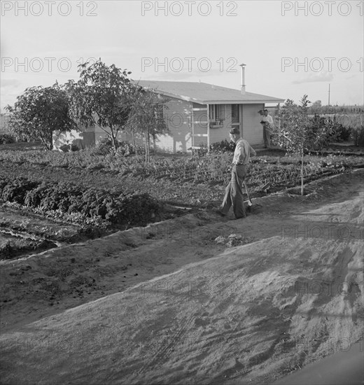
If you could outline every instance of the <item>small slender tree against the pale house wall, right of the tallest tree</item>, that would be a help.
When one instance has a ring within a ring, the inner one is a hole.
[[[134,102],[127,121],[127,130],[133,134],[141,134],[146,146],[146,162],[151,160],[151,138],[155,143],[158,134],[168,132],[163,116],[167,99],[157,92],[146,91],[138,87],[133,98]]]

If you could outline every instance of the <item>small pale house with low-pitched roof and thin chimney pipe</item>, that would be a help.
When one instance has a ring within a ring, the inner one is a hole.
[[[229,139],[229,130],[239,127],[242,137],[252,146],[263,144],[262,125],[258,111],[265,104],[279,104],[284,99],[246,92],[244,65],[241,64],[241,90],[197,82],[139,80],[136,83],[146,90],[157,92],[168,99],[163,116],[168,134],[159,135],[155,145],[162,151],[188,152],[201,144]],[[73,141],[80,148],[97,143],[106,136],[99,127],[83,132],[71,132],[55,142],[59,147]],[[132,141],[132,134],[121,132],[119,140]]]

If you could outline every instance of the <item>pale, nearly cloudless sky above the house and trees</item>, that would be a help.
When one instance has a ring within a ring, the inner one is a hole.
[[[134,80],[364,104],[364,1],[1,0],[0,108],[101,58]]]

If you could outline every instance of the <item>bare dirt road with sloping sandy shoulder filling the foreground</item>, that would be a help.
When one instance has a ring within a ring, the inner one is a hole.
[[[347,348],[363,174],[257,199],[245,220],[198,211],[2,262],[3,383],[260,384]]]

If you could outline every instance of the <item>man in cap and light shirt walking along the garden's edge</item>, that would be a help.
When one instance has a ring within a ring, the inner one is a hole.
[[[236,219],[245,218],[243,183],[246,176],[248,162],[256,153],[250,144],[240,137],[238,128],[232,128],[229,132],[230,140],[237,144],[234,158],[232,159],[232,172],[230,183],[225,188],[225,197],[220,207],[220,213],[227,215],[230,207],[234,210]]]

